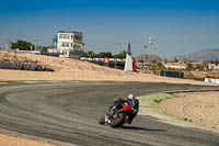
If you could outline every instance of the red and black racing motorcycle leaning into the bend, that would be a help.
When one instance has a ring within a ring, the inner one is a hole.
[[[108,124],[111,127],[122,126],[127,122],[129,115],[134,113],[134,109],[124,102],[116,108],[115,101],[108,109],[108,112],[100,120],[100,124]]]

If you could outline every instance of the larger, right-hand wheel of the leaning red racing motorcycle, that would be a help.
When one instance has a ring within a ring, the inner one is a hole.
[[[127,113],[125,113],[125,112],[118,113],[117,116],[112,120],[111,127],[122,126],[126,120],[126,115],[127,115]]]

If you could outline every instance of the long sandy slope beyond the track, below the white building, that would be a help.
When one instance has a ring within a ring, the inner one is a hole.
[[[108,80],[108,81],[147,81],[147,82],[171,82],[192,85],[212,85],[203,81],[166,78],[141,72],[124,71],[110,67],[80,61],[71,58],[49,57],[16,52],[0,50],[0,61],[12,63],[36,63],[55,71],[26,71],[0,69],[0,81],[14,80]]]

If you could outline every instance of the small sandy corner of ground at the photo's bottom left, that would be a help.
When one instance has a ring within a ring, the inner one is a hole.
[[[0,145],[1,146],[57,146],[44,142],[36,142],[32,139],[24,139],[16,136],[9,136],[5,134],[0,134]]]

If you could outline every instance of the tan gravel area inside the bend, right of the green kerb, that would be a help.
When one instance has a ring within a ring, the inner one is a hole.
[[[219,91],[175,93],[159,103],[159,109],[200,126],[219,130]]]

